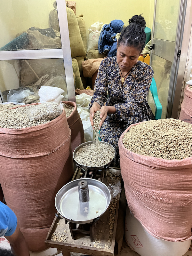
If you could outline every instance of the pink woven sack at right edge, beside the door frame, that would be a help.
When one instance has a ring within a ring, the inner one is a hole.
[[[184,90],[179,119],[192,124],[192,90],[189,88],[189,84],[186,85]]]

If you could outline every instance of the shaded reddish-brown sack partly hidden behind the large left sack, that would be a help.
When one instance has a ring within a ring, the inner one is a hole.
[[[76,103],[74,101],[62,101],[62,103],[74,107],[73,112],[67,118],[69,128],[71,129],[71,146],[73,153],[77,146],[85,142],[83,124],[77,111]]]

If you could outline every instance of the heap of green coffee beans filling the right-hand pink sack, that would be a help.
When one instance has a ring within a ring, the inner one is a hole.
[[[123,144],[139,155],[181,160],[192,156],[192,124],[173,118],[146,121],[132,126]]]

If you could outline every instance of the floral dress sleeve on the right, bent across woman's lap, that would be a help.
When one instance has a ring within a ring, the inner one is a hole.
[[[127,121],[134,118],[135,113],[142,112],[142,106],[146,105],[147,94],[153,78],[153,69],[150,66],[139,70],[139,78],[133,81],[133,87],[124,103],[115,104],[116,113],[113,114],[116,121]]]

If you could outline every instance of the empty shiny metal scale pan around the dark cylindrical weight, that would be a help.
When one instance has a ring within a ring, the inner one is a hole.
[[[78,182],[86,180],[89,187],[89,201],[79,201]],[[73,223],[90,223],[100,217],[109,207],[111,194],[108,187],[99,180],[77,179],[63,186],[55,196],[55,207],[66,220]]]

